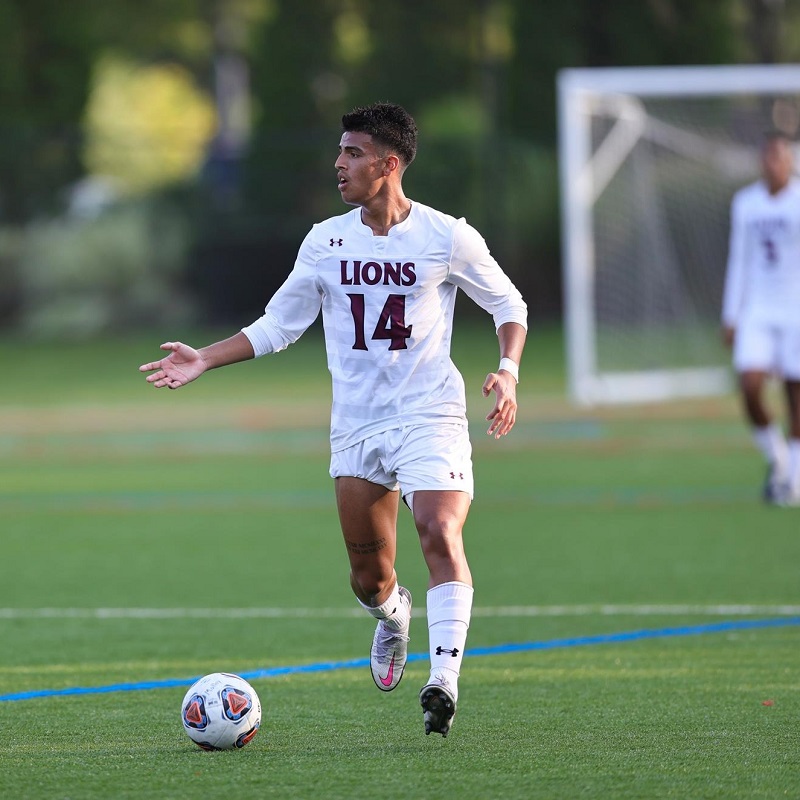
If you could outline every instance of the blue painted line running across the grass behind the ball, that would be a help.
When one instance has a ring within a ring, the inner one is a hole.
[[[595,636],[575,636],[568,639],[550,639],[543,642],[520,642],[494,645],[492,647],[473,647],[465,653],[467,656],[496,656],[507,653],[525,653],[533,650],[557,650],[566,647],[585,647],[597,644],[618,644],[620,642],[637,642],[645,639],[667,639],[677,636],[697,636],[706,633],[726,633],[730,631],[758,630],[764,628],[788,628],[800,626],[800,617],[781,617],[778,619],[731,620],[714,622],[707,625],[684,625],[674,628],[645,629],[625,631],[622,633],[599,634]],[[408,660],[422,661],[428,653],[409,653]],[[340,669],[362,669],[369,666],[368,658],[357,658],[351,661],[321,661],[299,666],[270,667],[269,669],[240,672],[245,680],[262,678],[278,678],[284,675],[302,675],[311,672],[332,672]],[[0,702],[8,703],[17,700],[35,700],[39,697],[64,697],[81,694],[109,694],[111,692],[140,692],[148,689],[173,689],[179,686],[191,686],[198,678],[169,678],[158,681],[140,681],[137,683],[113,683],[107,686],[74,686],[67,689],[36,689],[29,692],[15,692],[0,695]]]

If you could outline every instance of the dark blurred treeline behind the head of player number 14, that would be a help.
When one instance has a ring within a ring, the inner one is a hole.
[[[773,0],[0,0],[0,226],[56,213],[85,173],[100,55],[180,63],[212,95],[233,60],[246,145],[223,125],[199,188],[175,187],[197,231],[190,280],[220,316],[250,309],[254,271],[269,291],[309,225],[342,210],[339,118],[374,100],[420,124],[409,194],[466,216],[555,314],[557,71],[788,61],[799,31],[796,5]]]

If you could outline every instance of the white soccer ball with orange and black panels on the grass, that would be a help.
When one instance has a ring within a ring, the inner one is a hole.
[[[203,750],[232,750],[258,733],[261,701],[244,678],[214,672],[189,687],[181,720],[186,735]]]

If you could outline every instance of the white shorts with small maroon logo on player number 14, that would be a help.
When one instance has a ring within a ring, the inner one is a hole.
[[[332,478],[363,478],[402,491],[474,492],[466,423],[431,423],[389,430],[331,455]]]

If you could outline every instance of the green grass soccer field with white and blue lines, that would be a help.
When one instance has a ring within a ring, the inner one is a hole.
[[[577,410],[557,333],[534,330],[495,442],[491,324],[454,343],[477,491],[451,735],[423,733],[422,658],[390,695],[363,666],[254,678],[253,743],[197,749],[190,678],[363,660],[373,624],[348,587],[318,334],[158,392],[137,366],[175,335],[0,341],[0,797],[800,797],[800,510],[760,504],[735,398]],[[408,514],[399,537],[421,612]],[[77,687],[98,691],[55,693]]]

